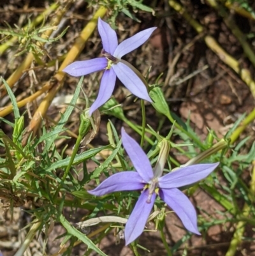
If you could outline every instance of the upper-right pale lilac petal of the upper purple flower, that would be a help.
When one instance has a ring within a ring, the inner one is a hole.
[[[140,45],[149,39],[150,35],[156,28],[157,27],[151,27],[150,29],[145,29],[135,34],[135,36],[131,36],[131,38],[122,41],[122,43],[117,46],[113,56],[120,59],[125,54],[128,54],[129,52],[132,52],[132,50],[140,47]]]

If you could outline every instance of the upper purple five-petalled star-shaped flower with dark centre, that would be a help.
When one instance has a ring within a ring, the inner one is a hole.
[[[147,92],[146,81],[142,77],[142,74],[130,63],[121,59],[121,57],[145,43],[155,29],[156,27],[145,29],[135,34],[135,36],[131,36],[131,38],[122,41],[122,43],[118,45],[115,31],[106,22],[100,18],[98,19],[98,31],[103,42],[102,54],[104,57],[87,61],[76,61],[69,64],[63,70],[75,77],[105,70],[101,80],[98,98],[89,110],[90,116],[94,110],[107,102],[112,95],[116,76],[135,96],[152,102]]]

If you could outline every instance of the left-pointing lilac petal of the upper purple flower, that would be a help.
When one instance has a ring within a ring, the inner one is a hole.
[[[87,61],[75,61],[69,64],[62,71],[73,75],[74,77],[80,77],[99,70],[103,70],[107,66],[107,59],[105,57],[99,57],[96,59],[89,59]]]

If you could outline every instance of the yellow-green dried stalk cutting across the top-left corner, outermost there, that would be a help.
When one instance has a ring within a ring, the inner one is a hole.
[[[27,29],[33,29],[33,27],[36,27],[38,24],[43,22],[43,20],[47,19],[48,15],[52,13],[52,11],[55,11],[59,7],[59,3],[53,3],[47,10],[43,11],[36,19],[34,19],[31,24],[25,27],[23,27],[24,30]],[[17,36],[13,36],[10,40],[3,43],[3,45],[0,45],[0,56],[4,54],[4,52],[12,45],[16,43],[18,40]]]

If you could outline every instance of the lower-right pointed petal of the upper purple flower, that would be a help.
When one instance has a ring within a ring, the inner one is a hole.
[[[113,64],[112,68],[122,84],[124,84],[131,93],[138,98],[152,102],[145,84],[143,84],[142,80],[129,66],[119,62],[118,64]]]

